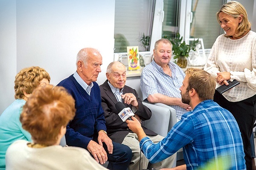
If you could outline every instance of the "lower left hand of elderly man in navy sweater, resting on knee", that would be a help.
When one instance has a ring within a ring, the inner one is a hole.
[[[87,150],[93,155],[94,159],[100,164],[105,164],[108,160],[107,153],[103,146],[97,144],[93,140],[87,145]]]

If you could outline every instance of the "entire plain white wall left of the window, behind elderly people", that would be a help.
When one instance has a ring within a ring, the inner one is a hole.
[[[56,85],[76,71],[84,47],[101,51],[102,84],[113,61],[114,8],[114,0],[0,0],[0,114],[14,101],[20,69],[45,68]]]

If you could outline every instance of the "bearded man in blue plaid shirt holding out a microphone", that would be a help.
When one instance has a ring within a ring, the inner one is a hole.
[[[185,165],[177,170],[245,170],[243,142],[233,115],[213,102],[215,79],[206,71],[189,68],[180,87],[182,102],[193,111],[183,114],[167,136],[154,144],[143,132],[140,122],[127,120],[137,133],[140,149],[151,163],[166,159],[183,147]],[[175,170],[176,170],[175,169]],[[167,169],[164,169],[167,170]]]

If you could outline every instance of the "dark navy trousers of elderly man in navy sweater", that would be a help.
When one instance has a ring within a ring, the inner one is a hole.
[[[128,166],[131,162],[131,149],[125,144],[119,144],[113,142],[113,153],[108,153],[108,148],[105,143],[103,143],[103,147],[108,155],[108,169],[109,170],[127,170]]]

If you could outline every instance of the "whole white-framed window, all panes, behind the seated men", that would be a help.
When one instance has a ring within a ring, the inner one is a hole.
[[[227,0],[116,0],[114,53],[126,53],[127,46],[139,46],[139,51],[150,51],[161,37],[184,40],[202,38],[204,47],[212,48],[223,34],[215,14]],[[143,45],[143,37],[150,41]]]

